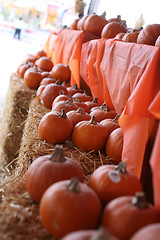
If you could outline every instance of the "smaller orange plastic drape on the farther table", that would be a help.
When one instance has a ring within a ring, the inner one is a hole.
[[[71,85],[77,83],[80,87],[80,59],[82,44],[92,39],[99,38],[96,35],[66,29],[58,34],[56,47],[51,52],[51,59],[54,64],[69,64],[71,69]]]

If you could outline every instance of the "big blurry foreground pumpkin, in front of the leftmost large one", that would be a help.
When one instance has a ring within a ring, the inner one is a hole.
[[[100,214],[101,203],[96,193],[77,178],[54,183],[40,202],[42,224],[56,238],[97,228]]]

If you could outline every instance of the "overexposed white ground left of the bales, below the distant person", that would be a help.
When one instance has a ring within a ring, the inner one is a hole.
[[[49,32],[35,30],[27,33],[22,31],[21,39],[14,39],[14,29],[0,26],[0,117],[10,76],[27,54],[34,54],[43,48]]]

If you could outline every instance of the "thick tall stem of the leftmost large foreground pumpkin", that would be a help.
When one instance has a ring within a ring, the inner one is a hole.
[[[49,160],[53,162],[65,162],[64,149],[62,145],[56,145],[54,151],[52,152]]]

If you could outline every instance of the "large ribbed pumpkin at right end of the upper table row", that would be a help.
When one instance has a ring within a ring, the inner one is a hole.
[[[154,46],[159,35],[160,24],[148,24],[140,31],[137,43]]]

